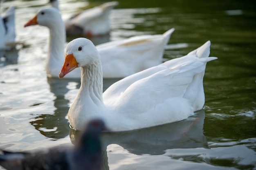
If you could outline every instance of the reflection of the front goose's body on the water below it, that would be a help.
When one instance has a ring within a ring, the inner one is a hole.
[[[104,168],[108,168],[106,148],[117,144],[135,155],[162,155],[173,148],[209,148],[203,134],[204,110],[199,110],[188,119],[151,128],[127,132],[105,132],[102,134]],[[70,139],[75,142],[79,131],[70,129]]]

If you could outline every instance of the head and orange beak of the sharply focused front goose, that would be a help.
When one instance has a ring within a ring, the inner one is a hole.
[[[77,67],[99,64],[101,64],[100,55],[94,44],[86,38],[76,38],[67,44],[59,78],[63,78]]]

